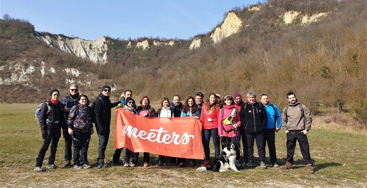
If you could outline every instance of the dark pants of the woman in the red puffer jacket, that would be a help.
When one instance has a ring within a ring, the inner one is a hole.
[[[204,135],[202,135],[201,137],[203,138],[202,140],[205,153],[205,160],[210,161],[210,148],[209,148],[210,137],[213,138],[215,158],[218,158],[220,154],[218,129],[204,129],[203,131]]]

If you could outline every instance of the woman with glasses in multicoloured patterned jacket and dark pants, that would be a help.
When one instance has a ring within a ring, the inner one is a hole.
[[[74,168],[90,168],[91,165],[88,164],[87,153],[91,134],[93,134],[93,124],[87,95],[79,95],[77,104],[70,108],[68,132],[73,137]]]

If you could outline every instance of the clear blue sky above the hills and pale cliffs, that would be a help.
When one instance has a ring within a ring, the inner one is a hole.
[[[28,19],[36,30],[96,40],[142,36],[188,39],[207,33],[233,7],[258,0],[0,0],[0,15]]]

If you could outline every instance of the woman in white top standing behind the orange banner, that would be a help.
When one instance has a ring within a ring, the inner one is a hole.
[[[158,117],[167,117],[167,118],[172,118],[173,117],[173,110],[171,109],[171,106],[170,106],[170,100],[167,97],[164,97],[161,100],[161,106],[157,110],[157,116]],[[163,166],[164,163],[166,163],[166,165],[169,166],[171,158],[172,157],[170,157],[170,156],[159,155],[158,166]]]

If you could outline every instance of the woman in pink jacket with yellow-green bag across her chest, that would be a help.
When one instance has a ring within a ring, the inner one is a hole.
[[[218,121],[218,135],[220,139],[224,140],[224,143],[233,142],[236,143],[236,135],[235,129],[237,129],[240,122],[240,115],[238,109],[235,107],[235,100],[230,95],[226,95],[222,100],[223,108],[219,113],[219,121]],[[239,132],[237,132],[239,133]],[[222,145],[222,148],[225,146]],[[236,147],[236,167],[240,168],[240,152],[239,148]]]

